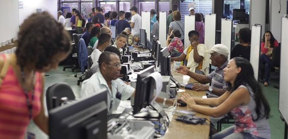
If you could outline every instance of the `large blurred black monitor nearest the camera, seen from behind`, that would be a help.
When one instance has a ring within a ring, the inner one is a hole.
[[[107,138],[107,89],[49,111],[49,138]]]

